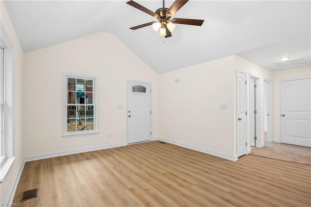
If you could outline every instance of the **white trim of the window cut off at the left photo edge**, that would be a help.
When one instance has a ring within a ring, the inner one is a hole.
[[[4,48],[4,156],[0,160],[0,183],[12,166],[14,156],[13,44],[0,22],[0,45]]]

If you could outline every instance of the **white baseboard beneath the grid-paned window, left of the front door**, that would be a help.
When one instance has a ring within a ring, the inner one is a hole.
[[[90,148],[82,148],[82,149],[75,149],[75,150],[69,150],[69,151],[63,151],[63,152],[56,152],[56,153],[47,153],[47,154],[41,154],[41,155],[34,155],[34,156],[27,156],[25,157],[25,162],[38,160],[38,159],[46,159],[56,156],[63,156],[63,155],[72,155],[77,153],[85,153],[95,150],[104,150],[114,147],[121,147],[127,145],[126,142],[118,143],[118,144],[109,144],[104,146],[98,146],[98,147],[90,147]]]

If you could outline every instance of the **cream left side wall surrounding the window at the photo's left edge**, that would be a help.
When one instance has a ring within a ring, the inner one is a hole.
[[[10,193],[17,178],[17,173],[23,162],[22,149],[22,107],[23,107],[23,51],[20,47],[17,35],[7,13],[3,1],[0,1],[1,23],[3,24],[12,44],[14,51],[14,71],[13,71],[13,100],[14,100],[14,154],[16,156],[9,172],[0,184],[0,203],[8,202]]]

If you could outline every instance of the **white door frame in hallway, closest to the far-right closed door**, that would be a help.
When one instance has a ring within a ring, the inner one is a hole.
[[[263,83],[267,83],[267,113],[269,114],[267,118],[267,141],[272,142],[272,81],[271,80],[263,80]],[[265,91],[264,91],[265,92]],[[265,116],[265,115],[264,115]]]

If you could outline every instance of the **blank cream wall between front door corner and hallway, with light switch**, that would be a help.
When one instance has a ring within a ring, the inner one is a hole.
[[[234,77],[233,56],[160,74],[160,137],[233,156]]]

